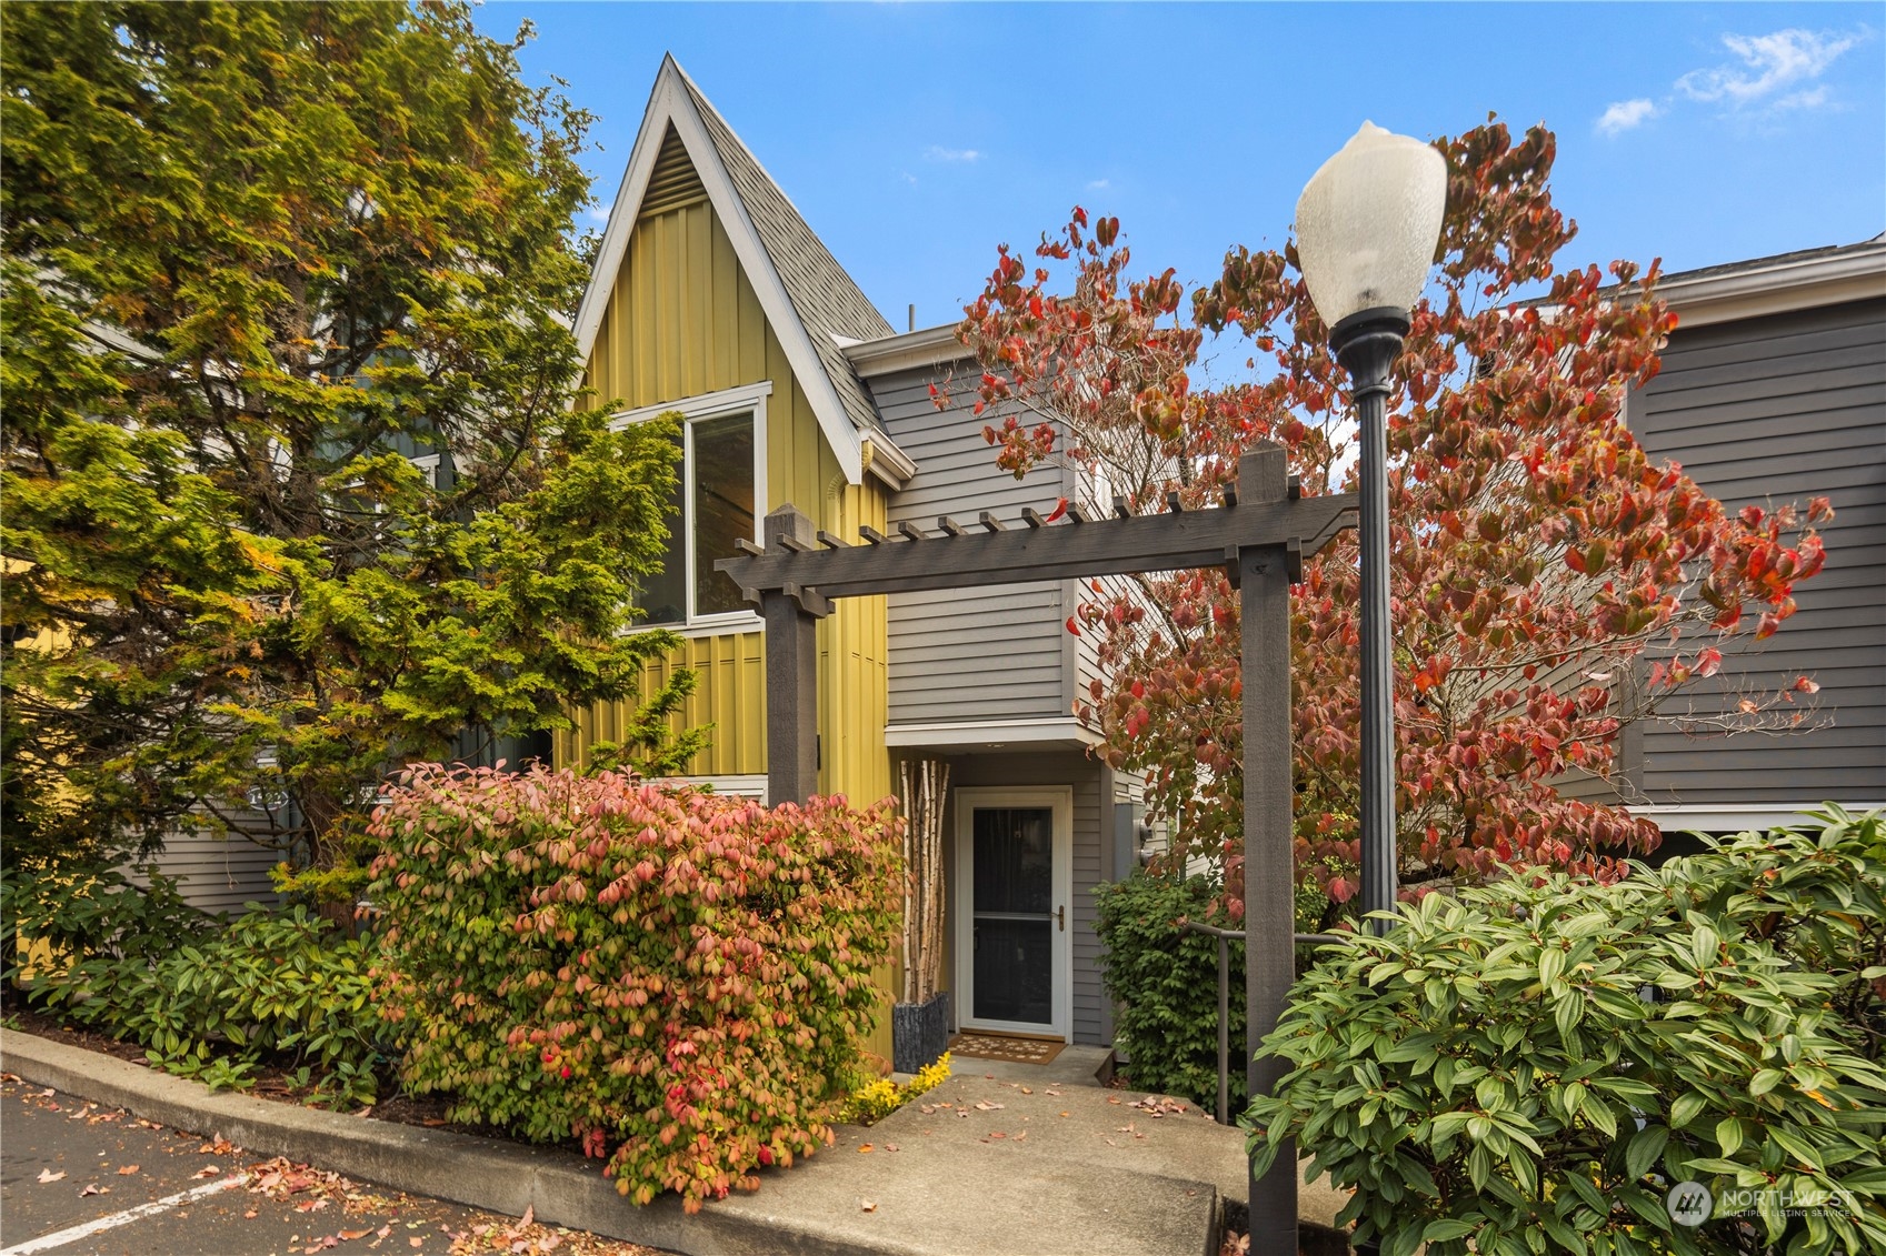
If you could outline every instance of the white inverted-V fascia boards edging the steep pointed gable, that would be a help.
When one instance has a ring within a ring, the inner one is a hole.
[[[649,189],[649,175],[654,172],[654,157],[660,153],[662,136],[668,134],[670,124],[681,136],[681,147],[687,149],[688,160],[694,162],[694,174],[700,175],[702,185],[707,189],[707,200],[720,217],[720,226],[726,228],[728,240],[734,245],[734,256],[739,258],[739,266],[747,273],[754,296],[760,298],[766,321],[779,338],[779,345],[786,351],[786,362],[792,366],[800,388],[803,388],[805,398],[811,402],[813,415],[819,419],[819,430],[824,432],[826,443],[832,445],[832,454],[837,458],[839,470],[845,471],[845,481],[851,485],[864,483],[864,447],[858,428],[852,426],[851,417],[845,413],[845,404],[839,400],[837,388],[832,387],[832,379],[826,375],[817,349],[813,349],[811,334],[800,322],[800,315],[792,307],[792,298],[786,296],[786,285],[781,283],[779,272],[773,268],[773,258],[768,256],[766,245],[760,243],[760,232],[753,226],[753,219],[747,217],[747,206],[734,189],[734,179],[728,177],[726,166],[720,162],[720,153],[713,147],[707,126],[702,123],[702,115],[694,107],[694,98],[687,91],[681,68],[671,57],[662,60],[662,72],[656,75],[654,94],[649,100],[649,115],[643,119],[641,132],[636,136],[636,147],[630,151],[622,192],[617,196],[615,207],[609,209],[609,226],[604,232],[596,272],[590,277],[590,289],[583,296],[583,309],[577,317],[577,347],[583,358],[588,360],[590,349],[596,343],[596,332],[602,328],[609,290],[620,273],[628,238],[634,232],[641,198]]]

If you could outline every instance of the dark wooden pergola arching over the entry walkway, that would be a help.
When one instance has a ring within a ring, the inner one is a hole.
[[[1290,583],[1303,558],[1356,526],[1354,494],[1303,498],[1284,471],[1281,445],[1266,443],[1237,466],[1224,505],[1113,519],[1069,507],[1049,524],[1035,511],[1005,524],[937,519],[935,532],[898,524],[902,539],[871,528],[860,543],[815,532],[790,504],[766,517],[766,547],[741,543],[726,571],[766,622],[766,764],[771,802],[803,802],[819,788],[817,622],[834,598],[932,588],[981,588],[1132,571],[1224,568],[1241,594],[1245,694],[1245,1007],[1249,1041],[1269,1033],[1296,977],[1290,781]],[[1250,1094],[1269,1094],[1282,1064],[1249,1062]],[[1296,1250],[1298,1165],[1284,1149],[1250,1182],[1252,1250]],[[1260,1237],[1262,1235],[1262,1237]]]

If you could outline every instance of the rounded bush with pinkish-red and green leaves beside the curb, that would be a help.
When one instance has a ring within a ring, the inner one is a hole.
[[[421,766],[372,832],[409,1090],[688,1211],[830,1141],[898,932],[888,803]]]

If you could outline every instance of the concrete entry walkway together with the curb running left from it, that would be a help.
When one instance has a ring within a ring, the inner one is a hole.
[[[626,1203],[573,1152],[209,1094],[0,1030],[0,1067],[41,1086],[396,1190],[511,1216],[534,1207],[543,1222],[690,1256],[1216,1256],[1220,1198],[1243,1198],[1237,1130],[1196,1111],[1154,1116],[1133,1092],[968,1071],[981,1064],[958,1062],[918,1103],[869,1130],[841,1128],[798,1167],[762,1171],[758,1192],[687,1216],[673,1198]],[[1339,1207],[1326,1188],[1303,1199],[1309,1222]]]

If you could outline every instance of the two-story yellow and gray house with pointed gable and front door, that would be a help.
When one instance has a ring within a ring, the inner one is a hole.
[[[666,664],[700,675],[681,719],[713,724],[690,779],[720,790],[764,794],[766,692],[760,620],[713,560],[769,509],[790,502],[856,539],[1073,496],[1060,470],[998,471],[971,398],[934,405],[930,383],[962,356],[951,330],[894,334],[671,58],[575,330],[620,422],[687,419],[681,521],[643,602],[685,637]],[[947,756],[958,1024],[1105,1043],[1092,886],[1122,871],[1128,790],[1071,715],[1088,668],[1062,630],[1073,603],[1064,583],[841,602],[819,624],[819,786],[869,803],[900,758]],[[622,715],[583,713],[558,762],[581,762]]]

